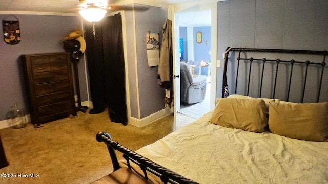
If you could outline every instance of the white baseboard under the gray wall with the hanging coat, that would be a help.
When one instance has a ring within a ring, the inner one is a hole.
[[[129,124],[140,128],[140,127],[146,126],[162,117],[165,117],[170,113],[173,113],[173,108],[162,109],[162,110],[155,112],[153,114],[150,114],[149,116],[142,118],[142,119],[137,119],[137,118],[131,117]]]

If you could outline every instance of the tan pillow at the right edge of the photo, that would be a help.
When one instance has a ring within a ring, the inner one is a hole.
[[[328,141],[328,103],[269,103],[272,133],[307,141]]]

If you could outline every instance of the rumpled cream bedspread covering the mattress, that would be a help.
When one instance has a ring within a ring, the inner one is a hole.
[[[211,115],[136,152],[199,183],[328,183],[328,142],[224,128]]]

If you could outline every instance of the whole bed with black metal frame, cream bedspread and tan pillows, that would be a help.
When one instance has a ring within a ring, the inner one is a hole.
[[[136,152],[96,139],[152,183],[328,183],[326,54],[229,47],[213,111]]]

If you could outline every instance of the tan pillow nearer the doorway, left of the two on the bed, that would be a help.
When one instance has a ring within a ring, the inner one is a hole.
[[[222,98],[218,101],[210,122],[261,133],[268,126],[268,108],[262,99]]]

